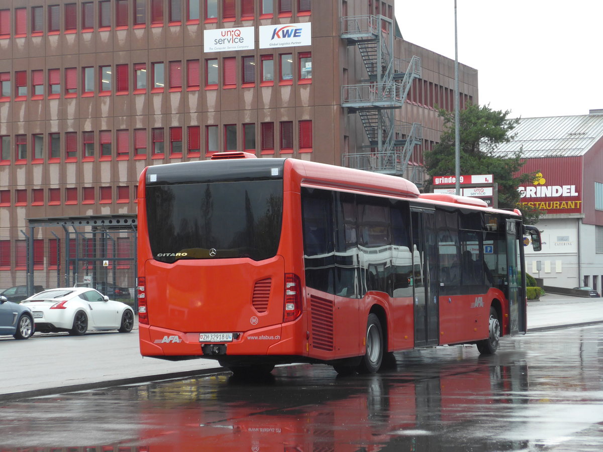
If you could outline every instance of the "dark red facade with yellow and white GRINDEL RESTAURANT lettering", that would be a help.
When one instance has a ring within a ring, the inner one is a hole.
[[[546,213],[581,213],[581,162],[563,157],[529,159],[522,172],[535,172],[531,184],[519,187],[521,203]]]

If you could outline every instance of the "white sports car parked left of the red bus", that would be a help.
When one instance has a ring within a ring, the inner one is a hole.
[[[21,302],[34,316],[36,332],[81,336],[87,330],[119,330],[129,333],[134,310],[121,301],[89,287],[60,287],[36,293]]]

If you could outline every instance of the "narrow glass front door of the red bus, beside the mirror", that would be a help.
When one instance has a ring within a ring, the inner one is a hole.
[[[523,250],[521,223],[507,220],[507,281],[509,300],[509,321],[511,335],[525,333],[526,304],[525,304],[525,269],[523,268]]]

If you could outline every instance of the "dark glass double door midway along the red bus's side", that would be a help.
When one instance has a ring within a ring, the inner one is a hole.
[[[415,347],[438,345],[438,280],[435,212],[411,209]]]

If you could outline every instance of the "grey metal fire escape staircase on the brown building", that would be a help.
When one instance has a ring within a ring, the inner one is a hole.
[[[421,77],[421,60],[394,58],[394,23],[385,16],[341,18],[341,37],[358,46],[368,79],[342,87],[341,104],[358,113],[367,133],[369,149],[343,155],[343,166],[385,174],[405,175],[414,146],[421,143],[420,124],[394,120],[415,78]],[[414,180],[413,180],[414,181]]]

